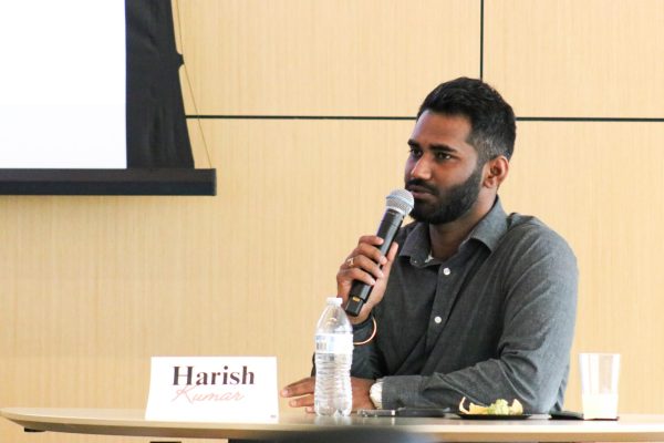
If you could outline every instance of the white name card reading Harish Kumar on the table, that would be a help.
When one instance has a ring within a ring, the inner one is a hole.
[[[145,420],[276,422],[274,357],[153,357]]]

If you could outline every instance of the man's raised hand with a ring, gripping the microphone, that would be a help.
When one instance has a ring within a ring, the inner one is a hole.
[[[385,293],[390,269],[392,269],[398,245],[393,243],[385,257],[376,247],[382,244],[383,239],[375,235],[360,237],[357,247],[353,249],[339,268],[339,272],[336,272],[336,290],[338,295],[343,299],[344,305],[349,300],[349,292],[353,286],[353,280],[373,286],[371,297],[362,307],[360,315],[357,317],[349,317],[354,324],[366,320],[373,307],[381,302]],[[383,266],[382,269],[381,265]]]

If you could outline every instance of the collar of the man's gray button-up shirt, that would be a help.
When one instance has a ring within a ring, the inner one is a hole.
[[[479,220],[473,231],[461,243],[461,247],[469,240],[478,240],[486,245],[490,251],[494,251],[500,241],[502,235],[507,231],[507,215],[502,209],[500,199],[496,197],[494,207],[487,215]],[[412,257],[413,259],[426,261],[430,253],[428,224],[416,222],[412,231],[404,241],[400,256]]]

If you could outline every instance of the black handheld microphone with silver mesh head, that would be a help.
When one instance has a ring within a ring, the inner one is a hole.
[[[384,241],[378,247],[382,255],[386,255],[398,233],[404,218],[413,210],[415,200],[413,195],[406,189],[394,189],[387,196],[387,203],[385,214],[378,225],[378,231],[376,236],[381,237]],[[349,301],[345,306],[345,311],[349,316],[357,317],[360,310],[369,300],[373,286],[366,285],[363,281],[353,280],[351,292],[349,293]]]

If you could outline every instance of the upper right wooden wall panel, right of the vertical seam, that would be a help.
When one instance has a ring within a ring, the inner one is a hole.
[[[518,115],[664,117],[660,0],[496,0],[485,8],[485,80]]]

